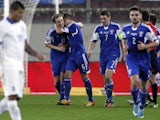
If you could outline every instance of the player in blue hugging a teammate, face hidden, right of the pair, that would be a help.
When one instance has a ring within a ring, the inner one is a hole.
[[[92,84],[88,77],[89,60],[83,45],[81,30],[79,26],[77,26],[76,23],[72,21],[71,15],[64,14],[64,20],[66,27],[59,32],[64,32],[67,34],[68,44],[70,46],[70,54],[66,63],[64,79],[66,98],[67,100],[70,100],[71,77],[73,73],[79,69],[88,95],[88,102],[84,106],[94,106],[95,103],[92,96]]]

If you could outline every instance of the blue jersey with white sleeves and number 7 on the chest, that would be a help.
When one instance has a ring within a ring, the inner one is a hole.
[[[108,27],[98,25],[94,32],[91,41],[97,42],[100,40],[100,57],[106,58],[115,54],[120,56],[118,34],[121,28],[119,24],[111,22]]]

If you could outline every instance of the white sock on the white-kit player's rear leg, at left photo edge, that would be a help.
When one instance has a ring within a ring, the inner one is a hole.
[[[1,101],[0,101],[0,115],[7,111],[7,101],[8,101],[8,98],[7,97],[4,97]]]

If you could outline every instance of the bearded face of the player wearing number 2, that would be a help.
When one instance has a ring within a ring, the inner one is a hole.
[[[141,14],[139,11],[133,10],[129,13],[132,24],[138,24],[141,21]]]

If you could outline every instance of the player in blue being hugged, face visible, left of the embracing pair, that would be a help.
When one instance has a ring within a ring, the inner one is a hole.
[[[65,47],[67,38],[65,33],[57,34],[56,32],[56,30],[64,27],[63,15],[55,14],[52,16],[52,21],[54,26],[48,30],[45,45],[51,49],[50,59],[52,64],[52,73],[54,75],[55,87],[60,94],[60,99],[57,104],[69,104],[69,102],[65,100],[64,95],[64,72],[68,58]]]

